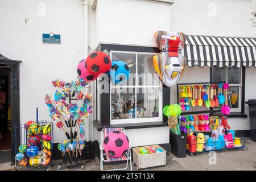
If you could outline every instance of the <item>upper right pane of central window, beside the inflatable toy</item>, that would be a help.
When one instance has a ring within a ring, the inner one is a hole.
[[[138,54],[138,85],[160,85],[152,59],[154,55]]]

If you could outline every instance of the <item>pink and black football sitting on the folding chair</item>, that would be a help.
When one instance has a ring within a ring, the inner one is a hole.
[[[129,149],[129,139],[120,131],[113,131],[106,135],[103,147],[109,156],[119,157],[125,155]]]

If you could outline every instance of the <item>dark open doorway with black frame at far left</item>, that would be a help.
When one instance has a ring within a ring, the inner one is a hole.
[[[0,54],[0,165],[15,156],[15,130],[19,125],[19,64]],[[19,133],[16,134],[19,142]]]

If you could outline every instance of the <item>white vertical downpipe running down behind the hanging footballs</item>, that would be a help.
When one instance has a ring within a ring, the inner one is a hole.
[[[82,2],[84,5],[84,58],[89,55],[89,0]],[[86,88],[86,92],[93,94],[93,84],[90,82],[89,88]],[[92,100],[92,106],[94,99]],[[85,141],[93,141],[93,115],[90,115],[88,121],[85,122]]]

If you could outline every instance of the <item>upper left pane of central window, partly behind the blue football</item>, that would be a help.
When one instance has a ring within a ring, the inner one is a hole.
[[[124,61],[130,70],[129,79],[122,85],[135,85],[135,73],[136,73],[136,54],[135,53],[123,53],[123,52],[112,52],[112,61],[121,60]]]

